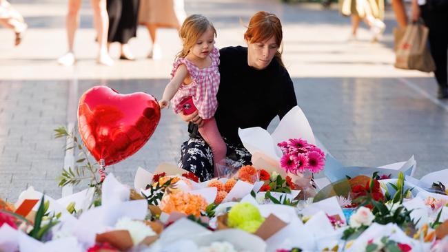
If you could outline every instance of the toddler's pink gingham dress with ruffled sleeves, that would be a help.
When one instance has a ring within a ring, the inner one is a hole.
[[[189,85],[182,84],[171,100],[174,112],[178,114],[182,111],[181,101],[188,96],[192,96],[193,103],[198,109],[199,116],[203,119],[209,119],[214,116],[218,107],[216,94],[219,87],[219,50],[214,48],[210,52],[212,64],[209,67],[198,68],[192,61],[185,58],[176,59],[173,64],[171,76],[174,77],[177,67],[181,64],[187,66],[187,70],[192,77],[192,83]]]

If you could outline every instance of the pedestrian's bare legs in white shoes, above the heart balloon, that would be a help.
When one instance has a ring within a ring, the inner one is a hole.
[[[106,0],[92,0],[94,13],[94,28],[98,34],[99,54],[96,61],[103,65],[112,65],[114,61],[108,54],[108,27],[109,19],[106,11]],[[74,34],[79,25],[79,9],[81,0],[69,0],[66,18],[66,29],[68,39],[68,52],[58,59],[61,65],[73,65],[74,59]]]

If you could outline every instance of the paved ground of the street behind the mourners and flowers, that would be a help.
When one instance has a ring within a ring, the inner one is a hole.
[[[145,59],[150,44],[146,30],[140,28],[130,42],[138,61],[96,65],[92,13],[89,1],[83,1],[75,49],[79,61],[74,67],[61,67],[55,59],[66,50],[66,3],[11,2],[30,30],[23,44],[14,48],[12,32],[0,29],[0,198],[15,200],[30,185],[59,198],[55,178],[63,167],[65,140],[54,139],[52,129],[74,120],[79,96],[94,85],[160,97],[180,43],[175,30],[160,30],[163,59]],[[369,43],[365,26],[360,28],[360,41],[347,43],[349,19],[336,9],[276,0],[242,2],[185,0],[185,8],[187,14],[202,13],[212,19],[220,48],[244,45],[241,21],[247,22],[256,10],[278,14],[284,28],[284,60],[298,104],[316,137],[338,160],[345,165],[379,166],[415,155],[418,177],[447,168],[448,105],[434,97],[431,74],[394,69],[391,28],[395,22],[390,11],[382,43]],[[114,56],[116,50],[112,46]],[[136,167],[174,164],[186,138],[185,123],[164,110],[147,145],[110,170],[132,185]]]

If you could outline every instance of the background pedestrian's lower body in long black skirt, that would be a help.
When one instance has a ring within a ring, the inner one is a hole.
[[[110,43],[120,43],[120,59],[134,60],[128,42],[136,36],[139,0],[108,0]]]

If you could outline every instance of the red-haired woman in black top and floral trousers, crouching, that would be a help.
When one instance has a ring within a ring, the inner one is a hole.
[[[216,124],[227,145],[227,159],[234,160],[235,168],[252,164],[252,156],[238,136],[238,127],[266,129],[274,117],[283,118],[297,105],[292,80],[279,52],[283,32],[278,17],[268,12],[256,12],[244,38],[247,48],[237,46],[220,50],[221,83],[216,95]],[[202,125],[197,112],[179,115],[185,121],[199,127]],[[200,134],[190,136],[181,146],[179,167],[191,171],[201,181],[213,178],[212,150]]]

